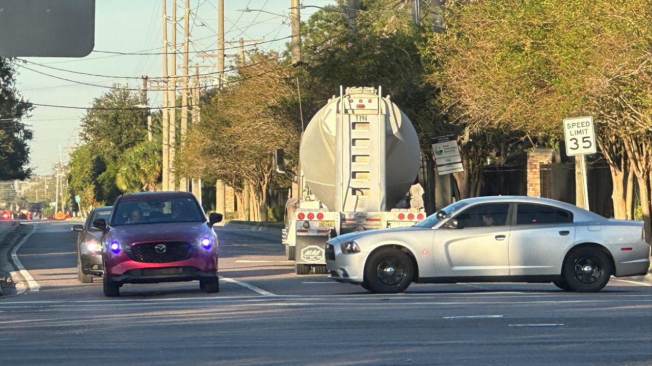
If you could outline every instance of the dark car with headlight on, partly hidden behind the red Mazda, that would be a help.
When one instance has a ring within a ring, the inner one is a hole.
[[[108,220],[111,217],[111,208],[111,206],[93,208],[83,225],[72,225],[72,230],[79,232],[77,236],[77,279],[81,283],[91,283],[93,277],[101,276],[104,273],[102,230],[93,227],[93,221]]]

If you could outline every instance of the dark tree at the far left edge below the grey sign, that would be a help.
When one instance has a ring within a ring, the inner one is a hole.
[[[16,70],[9,59],[0,57],[0,180],[24,180],[32,175],[29,141],[33,134],[20,122],[33,109],[16,91]]]

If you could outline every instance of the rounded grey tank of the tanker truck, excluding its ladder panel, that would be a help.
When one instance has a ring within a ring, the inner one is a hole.
[[[355,99],[361,95],[361,98],[367,98],[372,94],[350,95],[344,96],[344,99]],[[378,167],[378,176],[385,177],[385,189],[379,195],[379,200],[382,202],[377,207],[390,210],[406,195],[415,181],[419,173],[421,152],[419,137],[417,137],[417,132],[408,117],[389,98],[379,98],[379,104],[384,113],[386,139],[385,164],[383,166],[382,160],[375,164]],[[340,98],[333,98],[329,100],[326,106],[319,109],[318,113],[308,123],[301,138],[301,147],[299,149],[299,159],[304,180],[312,193],[329,210],[338,210],[336,205],[336,141],[340,140],[345,144],[350,141],[347,138],[349,136],[338,139],[335,134],[338,107],[341,105]],[[344,122],[343,126],[346,126],[346,122]],[[374,145],[373,142],[372,145]],[[344,164],[350,161],[350,155],[352,154],[349,147],[345,147],[345,150],[348,154],[342,158]],[[375,155],[377,155],[377,152],[372,151],[372,154],[370,154],[372,160]],[[374,162],[372,161],[372,163]],[[343,166],[340,169],[346,171],[348,167]],[[349,184],[350,186],[351,181],[348,180],[348,176],[343,180],[344,184],[340,185],[346,186]],[[375,184],[376,187],[379,184],[379,182],[369,183],[370,185]],[[342,191],[348,191],[348,188],[343,187]],[[368,207],[371,208],[372,206],[369,205]],[[370,209],[356,208],[355,210],[369,211]]]

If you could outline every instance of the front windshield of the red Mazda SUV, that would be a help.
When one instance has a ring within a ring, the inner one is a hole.
[[[158,198],[121,201],[114,208],[111,225],[205,221],[199,205],[190,198]]]

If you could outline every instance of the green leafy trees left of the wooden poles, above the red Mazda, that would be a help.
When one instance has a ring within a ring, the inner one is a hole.
[[[82,145],[70,156],[68,193],[91,206],[111,204],[126,191],[154,190],[160,182],[160,145],[147,139],[141,95],[116,89],[93,100],[82,117]],[[160,130],[155,115],[153,130]],[[160,139],[160,135],[156,135]]]

